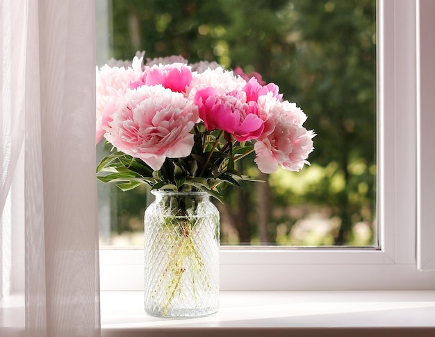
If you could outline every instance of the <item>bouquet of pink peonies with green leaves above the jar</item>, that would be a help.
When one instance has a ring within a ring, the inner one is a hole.
[[[126,191],[139,184],[164,191],[206,191],[222,200],[223,182],[254,180],[235,162],[255,152],[263,173],[299,171],[313,150],[306,115],[261,76],[188,64],[178,56],[97,69],[97,143],[113,151],[99,180]]]

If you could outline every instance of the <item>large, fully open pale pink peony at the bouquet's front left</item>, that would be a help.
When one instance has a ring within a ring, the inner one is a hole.
[[[106,139],[118,150],[142,159],[155,171],[166,157],[190,155],[197,107],[183,94],[161,85],[128,89],[104,111]]]

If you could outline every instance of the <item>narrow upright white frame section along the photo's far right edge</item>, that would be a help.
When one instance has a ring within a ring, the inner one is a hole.
[[[417,264],[420,270],[435,270],[435,1],[418,1],[417,12]]]

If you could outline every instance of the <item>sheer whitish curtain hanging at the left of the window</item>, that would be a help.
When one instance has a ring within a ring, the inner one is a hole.
[[[0,29],[1,295],[24,199],[28,336],[99,336],[94,1],[0,0]]]

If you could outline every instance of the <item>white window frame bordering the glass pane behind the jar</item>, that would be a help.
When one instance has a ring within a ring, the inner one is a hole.
[[[377,4],[377,209],[381,248],[222,248],[222,290],[435,289],[434,271],[421,271],[431,269],[427,261],[435,264],[435,207],[431,206],[435,204],[435,188],[425,189],[428,172],[435,171],[435,160],[428,159],[434,156],[426,156],[434,149],[435,132],[420,129],[417,124],[434,120],[423,108],[429,102],[433,110],[435,95],[421,90],[418,83],[423,79],[418,74],[424,73],[429,62],[433,66],[434,58],[418,60],[421,53],[417,50],[419,46],[425,51],[418,44],[417,34],[430,33],[418,28],[419,13],[424,13],[431,1],[379,0]],[[431,48],[434,55],[433,44]],[[423,97],[425,105],[418,103]],[[426,164],[432,170],[423,170]],[[418,182],[424,183],[419,187]],[[425,237],[429,234],[432,239]],[[100,277],[103,291],[142,290],[142,250],[100,250]]]

